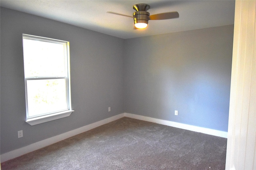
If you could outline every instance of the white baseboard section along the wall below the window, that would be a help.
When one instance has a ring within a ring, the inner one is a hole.
[[[62,133],[60,135],[57,135],[57,136],[54,136],[54,137],[50,137],[48,139],[44,139],[42,141],[39,141],[39,142],[36,142],[36,143],[33,143],[31,145],[28,145],[26,147],[22,147],[20,149],[16,149],[16,150],[12,150],[10,152],[6,152],[4,154],[1,154],[1,162],[5,162],[7,160],[10,160],[10,159],[13,159],[13,158],[16,158],[18,156],[21,156],[23,154],[26,154],[26,153],[29,153],[29,152],[32,152],[34,150],[38,150],[38,149],[41,149],[43,147],[46,147],[48,145],[52,145],[54,143],[57,143],[59,141],[62,141],[64,139],[68,139],[69,137],[72,137],[74,135],[78,135],[80,133],[83,133],[83,132],[86,132],[86,131],[89,131],[91,129],[94,129],[96,127],[99,127],[101,125],[104,125],[106,123],[110,123],[112,121],[115,121],[117,119],[120,119],[124,117],[124,114],[119,114],[119,115],[116,115],[116,116],[113,116],[113,117],[109,117],[107,119],[104,119],[104,120],[101,120],[101,121],[97,121],[95,123],[92,123],[90,125],[86,125],[86,126],[83,126],[83,127],[80,127],[78,129],[74,129],[72,131],[68,131],[66,133]]]

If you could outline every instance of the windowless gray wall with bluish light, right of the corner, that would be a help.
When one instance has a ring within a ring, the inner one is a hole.
[[[233,27],[125,40],[125,111],[228,131]]]

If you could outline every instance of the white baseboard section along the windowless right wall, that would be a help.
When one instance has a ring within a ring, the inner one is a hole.
[[[225,132],[225,131],[218,131],[218,130],[214,130],[214,129],[208,129],[208,128],[205,128],[205,127],[187,125],[187,124],[178,123],[178,122],[174,122],[174,121],[156,119],[156,118],[152,118],[152,117],[135,115],[135,114],[131,114],[131,113],[124,113],[124,116],[134,118],[134,119],[149,121],[149,122],[153,122],[153,123],[158,123],[158,124],[161,124],[161,125],[177,127],[177,128],[180,128],[180,129],[186,129],[186,130],[189,130],[189,131],[205,133],[205,134],[208,134],[208,135],[214,135],[214,136],[224,137],[224,138],[228,137],[228,132]]]

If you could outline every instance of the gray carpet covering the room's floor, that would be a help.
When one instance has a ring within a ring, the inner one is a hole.
[[[124,117],[1,166],[2,170],[224,170],[226,142]]]

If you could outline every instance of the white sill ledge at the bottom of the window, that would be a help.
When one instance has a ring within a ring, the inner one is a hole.
[[[35,117],[35,118],[32,118],[32,119],[26,120],[26,122],[33,126],[33,125],[37,125],[37,124],[44,123],[44,122],[47,122],[47,121],[52,121],[52,120],[60,119],[60,118],[63,118],[63,117],[68,117],[68,116],[70,116],[70,114],[73,111],[74,110],[67,110],[67,111],[54,113],[54,114],[51,114],[51,115]]]

